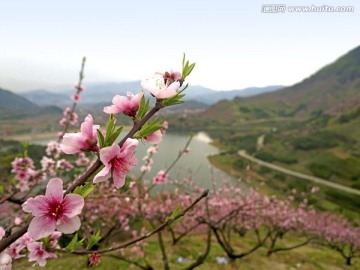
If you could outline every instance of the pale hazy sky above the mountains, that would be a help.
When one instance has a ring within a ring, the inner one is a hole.
[[[266,4],[354,12],[263,13]],[[0,0],[0,87],[137,80],[197,62],[190,83],[214,89],[291,85],[360,45],[358,0]]]

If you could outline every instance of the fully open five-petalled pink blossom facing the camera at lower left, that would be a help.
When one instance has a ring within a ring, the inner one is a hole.
[[[53,178],[46,186],[45,195],[29,198],[22,208],[32,213],[28,234],[34,240],[52,234],[55,229],[73,233],[80,228],[78,215],[84,207],[84,198],[78,194],[63,195],[63,181]]]

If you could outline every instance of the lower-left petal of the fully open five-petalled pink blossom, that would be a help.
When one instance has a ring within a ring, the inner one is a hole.
[[[47,216],[34,217],[30,222],[28,234],[34,240],[49,236],[55,231],[56,222]]]

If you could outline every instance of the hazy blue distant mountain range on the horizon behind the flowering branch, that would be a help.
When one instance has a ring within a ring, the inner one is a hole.
[[[86,90],[81,96],[81,103],[111,103],[114,95],[126,95],[126,92],[129,91],[134,93],[141,91],[140,85],[140,81],[86,85]],[[222,99],[231,100],[237,96],[253,96],[260,93],[275,91],[280,88],[282,88],[282,86],[251,87],[241,90],[215,91],[210,88],[195,85],[189,86],[189,88],[186,89],[186,96],[184,100],[198,100],[202,103],[212,105]],[[73,93],[73,90],[64,90],[61,93],[50,92],[47,90],[31,90],[23,92],[21,95],[28,98],[37,105],[68,106],[71,102],[70,96]]]

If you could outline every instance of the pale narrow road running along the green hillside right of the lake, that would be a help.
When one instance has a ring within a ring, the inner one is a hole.
[[[277,165],[262,161],[260,159],[254,158],[254,157],[248,155],[245,150],[238,151],[238,155],[245,158],[245,159],[247,159],[247,160],[250,160],[250,161],[255,162],[255,163],[257,163],[257,164],[259,164],[261,166],[270,168],[270,169],[275,170],[275,171],[279,171],[279,172],[282,172],[282,173],[285,173],[285,174],[288,174],[288,175],[292,175],[292,176],[295,176],[295,177],[298,177],[298,178],[301,178],[301,179],[309,180],[309,181],[312,181],[312,182],[315,182],[315,183],[318,183],[318,184],[321,184],[321,185],[324,185],[324,186],[328,186],[328,187],[331,187],[331,188],[335,188],[335,189],[338,189],[338,190],[341,190],[341,191],[345,191],[345,192],[348,192],[348,193],[360,195],[360,190],[358,190],[358,189],[351,188],[351,187],[344,186],[344,185],[340,185],[340,184],[337,184],[337,183],[333,183],[333,182],[330,182],[330,181],[328,181],[326,179],[318,178],[318,177],[315,177],[315,176],[312,176],[312,175],[307,175],[307,174],[295,172],[295,171],[292,171],[292,170],[289,170],[289,169],[285,169],[283,167],[280,167],[280,166],[277,166]]]

